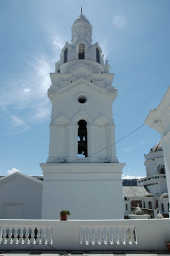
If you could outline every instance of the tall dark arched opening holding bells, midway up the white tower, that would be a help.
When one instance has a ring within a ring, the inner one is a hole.
[[[78,122],[78,157],[87,157],[87,122]]]

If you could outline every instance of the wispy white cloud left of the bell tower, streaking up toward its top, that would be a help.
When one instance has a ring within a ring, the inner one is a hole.
[[[52,26],[52,25],[51,25]],[[51,85],[49,73],[54,71],[54,63],[59,59],[59,49],[64,41],[54,27],[45,28],[46,41],[52,52],[48,56],[39,50],[35,55],[28,54],[23,69],[1,82],[0,108],[9,130],[6,133],[21,133],[29,129],[33,122],[43,122],[50,116],[51,103],[47,89]],[[58,56],[57,56],[58,55]]]

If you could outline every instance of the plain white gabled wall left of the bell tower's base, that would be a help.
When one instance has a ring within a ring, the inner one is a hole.
[[[0,195],[0,218],[41,219],[41,181],[11,174],[0,180]]]

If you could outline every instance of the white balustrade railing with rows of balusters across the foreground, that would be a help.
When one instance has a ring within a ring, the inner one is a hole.
[[[0,219],[0,250],[166,250],[170,219]]]

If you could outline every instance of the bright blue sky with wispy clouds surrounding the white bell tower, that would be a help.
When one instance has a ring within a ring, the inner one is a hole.
[[[83,14],[115,73],[116,141],[143,125],[170,85],[169,0],[0,1],[0,175],[13,168],[42,175],[48,157],[51,103],[49,73],[71,26]],[[125,176],[144,176],[144,154],[160,134],[143,126],[116,143]]]

